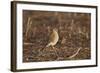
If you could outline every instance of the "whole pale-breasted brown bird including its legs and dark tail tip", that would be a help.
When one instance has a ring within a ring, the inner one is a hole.
[[[51,34],[49,35],[49,39],[47,41],[48,41],[47,45],[45,45],[44,48],[41,48],[39,50],[39,56],[43,55],[44,49],[47,49],[48,47],[52,47],[52,49],[54,50],[55,54],[57,55],[56,48],[54,48],[54,46],[59,41],[58,30],[56,28],[52,29]]]

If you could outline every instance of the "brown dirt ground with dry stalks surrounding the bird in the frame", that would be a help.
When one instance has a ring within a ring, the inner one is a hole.
[[[90,59],[90,27],[89,13],[23,10],[23,62]],[[46,48],[54,28],[59,40],[54,48]]]

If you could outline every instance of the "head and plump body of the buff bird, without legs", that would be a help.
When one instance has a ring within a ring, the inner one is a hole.
[[[49,36],[49,42],[46,45],[46,47],[51,46],[52,48],[54,48],[54,46],[57,44],[58,40],[59,40],[58,30],[57,30],[57,28],[54,28]]]

